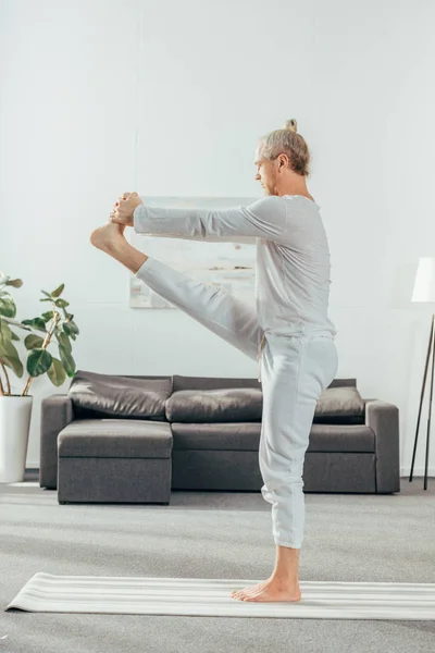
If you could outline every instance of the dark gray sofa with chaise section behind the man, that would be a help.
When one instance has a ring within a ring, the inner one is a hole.
[[[87,410],[86,404],[84,409],[71,393],[42,401],[39,484],[57,489],[59,503],[169,504],[172,490],[260,492],[261,384],[257,379],[120,379],[144,381],[151,389],[153,383],[159,387],[167,383],[170,391],[160,405],[156,394],[151,418],[134,411],[128,418],[108,417]],[[357,389],[357,382],[336,379],[333,387]],[[235,419],[228,420],[233,412],[226,411],[221,421],[219,403],[208,417],[202,403],[201,412],[201,393],[221,390],[225,401],[237,394],[240,407],[246,399],[240,393],[249,396],[241,389],[260,392],[252,393],[252,405],[245,402],[241,412],[236,410]],[[400,491],[398,408],[378,399],[361,401],[361,415],[314,417],[303,469],[304,492]],[[181,411],[183,402],[187,408]]]

